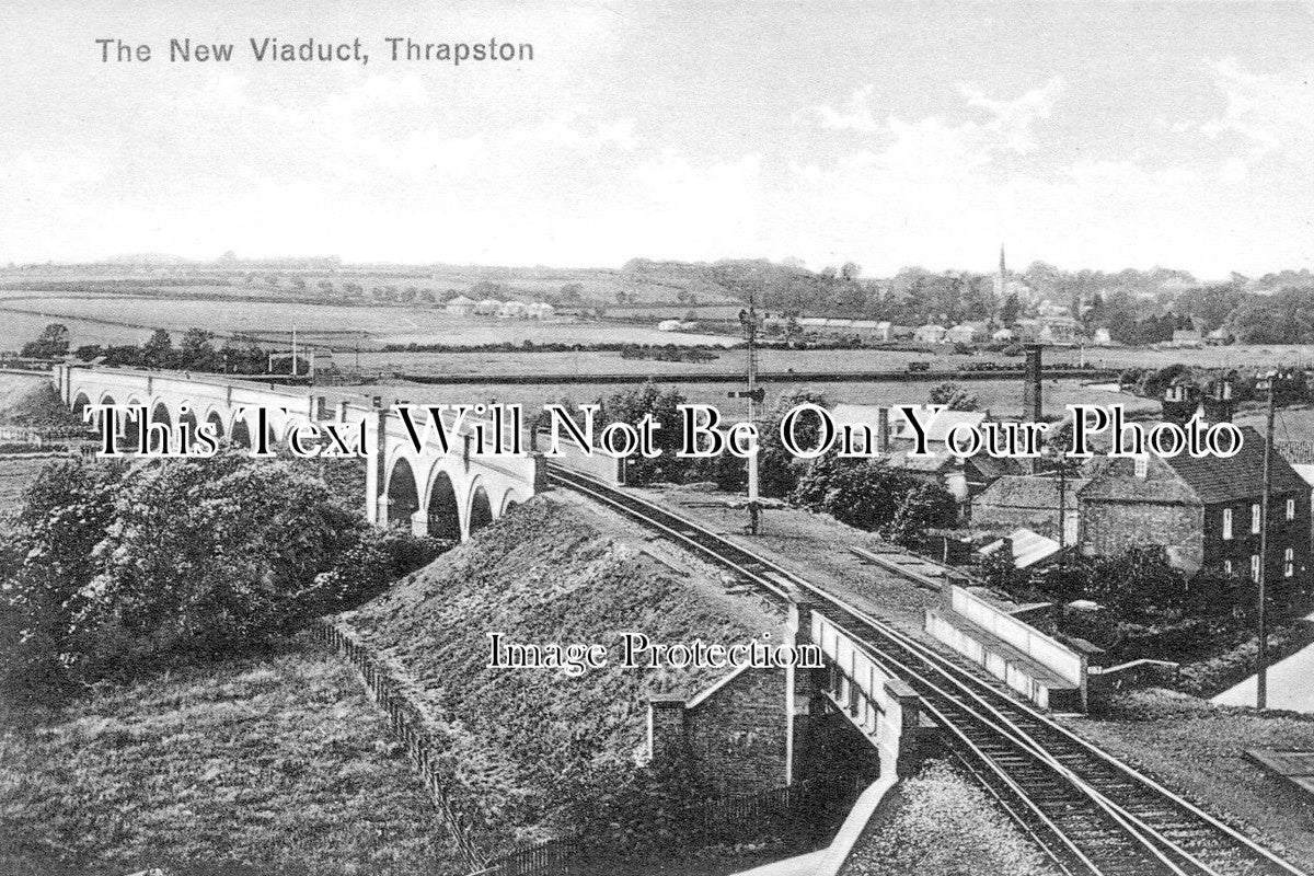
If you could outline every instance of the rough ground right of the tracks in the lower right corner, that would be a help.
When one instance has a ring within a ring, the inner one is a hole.
[[[1314,796],[1242,756],[1246,749],[1314,750],[1314,718],[1150,690],[1118,697],[1104,720],[1064,721],[1297,867],[1314,868]]]

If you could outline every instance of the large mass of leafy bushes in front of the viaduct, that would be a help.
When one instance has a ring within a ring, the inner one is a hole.
[[[47,466],[0,544],[0,678],[49,688],[250,649],[445,546],[372,529],[294,462]]]

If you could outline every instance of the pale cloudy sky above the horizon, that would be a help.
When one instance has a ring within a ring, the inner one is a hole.
[[[210,5],[7,0],[0,264],[1314,268],[1310,3]],[[184,38],[233,60],[171,62]]]

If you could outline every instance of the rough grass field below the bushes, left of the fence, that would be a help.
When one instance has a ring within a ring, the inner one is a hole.
[[[465,872],[352,671],[309,645],[4,717],[3,872]]]

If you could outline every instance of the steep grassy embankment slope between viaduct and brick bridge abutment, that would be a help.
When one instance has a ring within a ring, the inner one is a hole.
[[[343,619],[414,682],[449,738],[457,793],[493,826],[494,846],[556,833],[574,776],[643,747],[648,695],[691,695],[721,672],[489,670],[490,632],[599,642],[615,659],[624,630],[735,642],[782,621],[727,596],[712,567],[562,494],[516,508]]]

